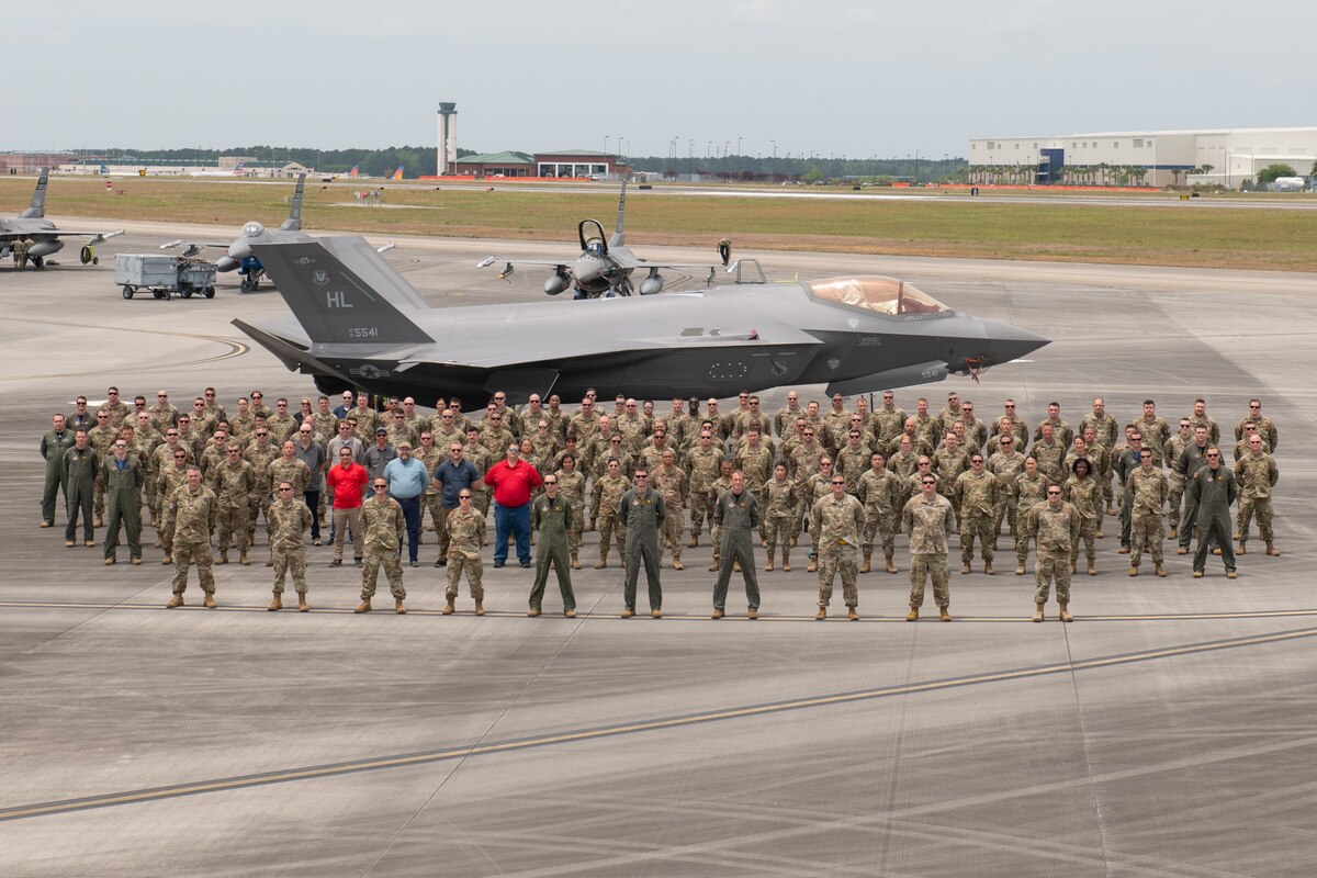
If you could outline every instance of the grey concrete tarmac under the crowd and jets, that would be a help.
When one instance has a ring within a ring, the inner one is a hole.
[[[203,229],[204,230],[204,229]],[[360,574],[308,548],[312,612],[270,613],[258,533],[249,567],[216,567],[220,608],[166,611],[171,567],[38,529],[41,433],[78,394],[126,400],[205,386],[221,401],[315,398],[229,320],[286,313],[279,295],[124,300],[113,253],[183,226],[130,229],[99,267],[0,267],[0,875],[1310,875],[1317,869],[1317,488],[1300,449],[1317,405],[1317,278],[1083,265],[736,253],[772,279],[896,274],[947,304],[1055,340],[980,376],[902,388],[913,411],[955,390],[984,420],[1018,400],[1071,424],[1101,394],[1123,421],[1151,396],[1196,396],[1222,432],[1250,396],[1280,429],[1276,530],[1227,581],[1126,575],[1115,523],[1076,621],[1033,611],[1033,565],[952,575],[952,624],[903,621],[901,573],[860,578],[859,623],[813,621],[817,577],[760,573],[763,616],[709,619],[707,534],[665,563],[664,613],[618,619],[622,574],[573,575],[579,617],[527,619],[531,575],[494,570],[486,617],[441,616],[433,537],[404,569],[408,615],[354,616]],[[233,229],[209,230],[232,237]],[[224,238],[221,238],[224,240]],[[113,245],[113,246],[112,246]],[[635,249],[655,258],[709,251]],[[558,245],[400,238],[386,258],[436,307],[539,300],[475,262]],[[58,261],[58,257],[57,257]],[[674,283],[676,288],[684,284]],[[698,286],[698,279],[694,286]],[[570,301],[562,301],[570,308]],[[819,398],[818,387],[799,388]],[[785,388],[763,394],[764,409]],[[419,400],[420,403],[432,400]],[[574,400],[566,400],[574,403]],[[735,400],[732,400],[734,403]],[[660,411],[669,400],[656,400]],[[726,408],[724,403],[724,408]],[[824,408],[827,407],[824,401]],[[574,408],[574,405],[573,405]],[[1225,440],[1223,440],[1225,442]],[[1233,442],[1227,444],[1233,448]],[[97,537],[103,536],[97,532]],[[763,550],[757,550],[760,563]],[[952,562],[957,555],[955,542]],[[291,591],[291,590],[290,590]],[[643,590],[641,590],[643,594]],[[641,599],[643,603],[643,599]],[[835,615],[840,612],[842,619]]]

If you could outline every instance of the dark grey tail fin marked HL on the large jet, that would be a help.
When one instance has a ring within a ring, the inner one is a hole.
[[[433,341],[319,241],[257,244],[252,251],[312,345]]]

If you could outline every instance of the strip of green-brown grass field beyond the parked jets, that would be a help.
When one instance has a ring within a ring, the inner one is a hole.
[[[128,178],[125,195],[105,194],[104,180],[55,178],[47,209],[55,216],[278,224],[287,215],[290,184]],[[377,183],[378,184],[378,183]],[[0,212],[26,205],[30,179],[0,178]],[[1148,197],[1167,200],[1164,194]],[[583,217],[611,230],[616,195],[514,192],[479,188],[390,187],[387,205],[350,203],[352,187],[307,183],[306,224],[374,234],[574,241]],[[1230,209],[1201,203],[1169,207],[1011,204],[994,197],[965,201],[738,199],[632,190],[627,242],[695,245],[712,250],[731,237],[736,249],[898,255],[1040,259],[1129,265],[1317,271],[1317,209]],[[408,209],[411,208],[411,209]]]

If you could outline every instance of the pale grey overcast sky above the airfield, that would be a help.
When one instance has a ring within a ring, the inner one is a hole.
[[[5,3],[0,149],[433,145],[965,155],[972,137],[1317,124],[1308,4]],[[55,9],[55,11],[45,11]],[[450,12],[461,11],[460,13]],[[1306,59],[1306,61],[1305,61]]]

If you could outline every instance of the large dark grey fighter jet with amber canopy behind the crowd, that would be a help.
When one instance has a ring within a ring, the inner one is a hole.
[[[324,394],[581,399],[594,387],[668,399],[788,384],[864,394],[975,374],[1046,338],[951,308],[896,278],[741,284],[702,292],[429,308],[361,238],[255,245],[292,316],[233,325]],[[624,309],[626,313],[619,311]]]

